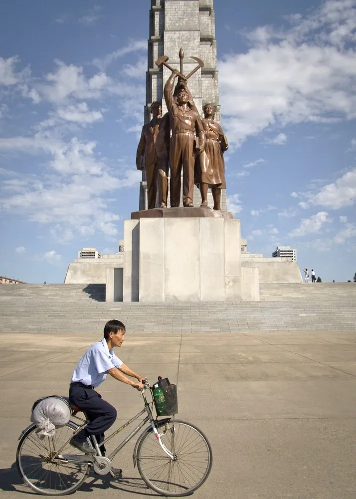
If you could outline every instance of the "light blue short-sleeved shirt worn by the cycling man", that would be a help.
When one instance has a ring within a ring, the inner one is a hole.
[[[74,369],[70,382],[80,381],[84,385],[97,387],[103,383],[109,369],[119,368],[122,364],[122,360],[115,355],[113,350],[109,350],[108,344],[103,338],[88,348]]]

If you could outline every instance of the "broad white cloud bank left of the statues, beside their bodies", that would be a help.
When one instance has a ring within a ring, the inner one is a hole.
[[[73,138],[65,143],[40,134],[34,137],[0,139],[0,150],[49,154],[52,175],[38,180],[34,176],[11,179],[7,186],[15,191],[0,199],[0,208],[25,215],[29,221],[52,224],[50,232],[57,241],[66,242],[75,233],[86,237],[96,231],[116,236],[119,215],[112,213],[107,194],[137,186],[141,173],[120,168],[114,176],[110,168],[96,159],[95,142]]]

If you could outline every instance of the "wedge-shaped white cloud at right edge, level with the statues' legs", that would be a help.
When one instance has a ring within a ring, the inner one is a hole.
[[[324,186],[317,194],[308,193],[307,196],[308,202],[299,203],[302,208],[315,205],[338,210],[354,205],[356,202],[356,168],[338,178],[336,182]]]

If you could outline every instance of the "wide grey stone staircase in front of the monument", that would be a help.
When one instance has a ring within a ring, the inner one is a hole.
[[[103,284],[2,284],[1,333],[356,332],[356,283],[261,284],[261,301],[106,303]]]

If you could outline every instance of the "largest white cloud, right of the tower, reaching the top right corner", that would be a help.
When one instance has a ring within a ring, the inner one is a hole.
[[[246,53],[219,63],[220,104],[230,142],[270,126],[356,117],[355,0],[327,0],[288,29],[260,26]]]

